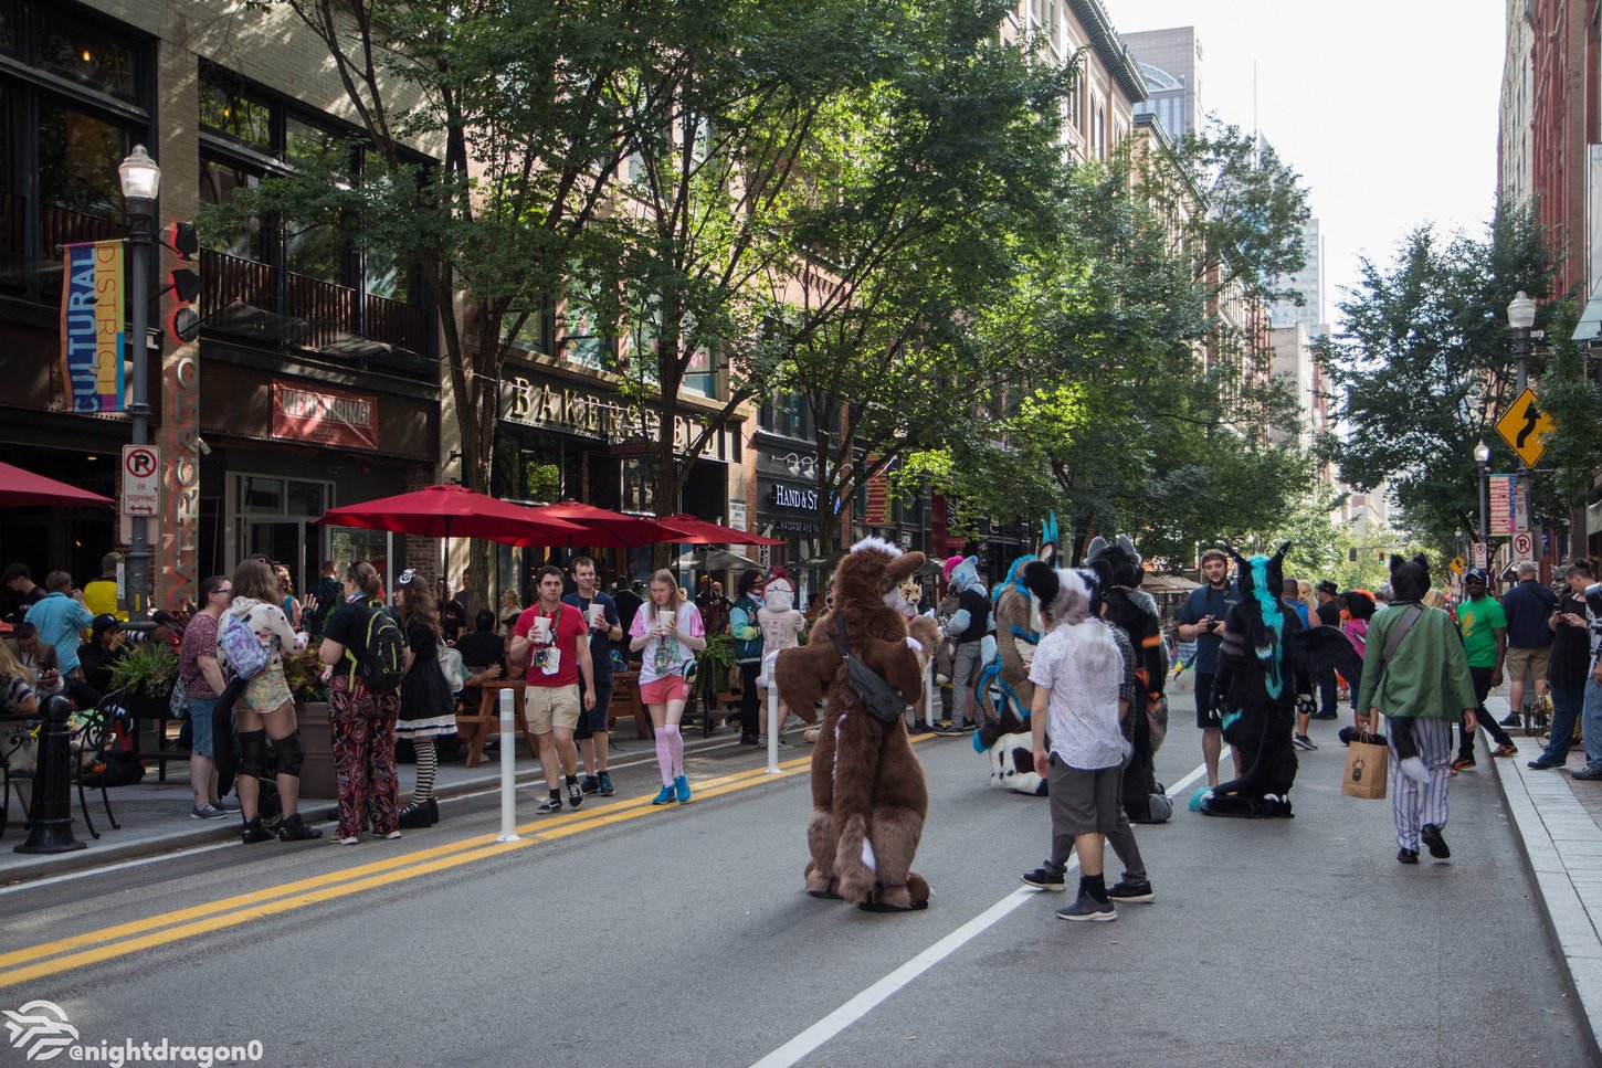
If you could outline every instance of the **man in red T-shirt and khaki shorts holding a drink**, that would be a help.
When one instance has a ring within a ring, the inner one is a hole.
[[[511,660],[524,664],[524,716],[540,740],[540,767],[551,794],[538,812],[556,813],[562,810],[557,770],[567,777],[567,804],[577,809],[585,802],[574,729],[580,709],[594,705],[596,682],[590,663],[590,623],[583,612],[562,604],[562,568],[541,567],[538,581],[540,600],[513,626]],[[578,695],[580,674],[583,697]]]

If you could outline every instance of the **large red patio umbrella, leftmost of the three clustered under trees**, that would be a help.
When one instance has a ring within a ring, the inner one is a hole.
[[[429,485],[399,496],[330,508],[319,519],[332,527],[392,530],[423,538],[484,538],[505,544],[566,544],[585,528],[535,509],[513,504],[465,485]]]

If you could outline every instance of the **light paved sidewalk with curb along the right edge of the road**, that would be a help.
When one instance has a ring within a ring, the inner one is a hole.
[[[1491,697],[1487,709],[1507,716],[1507,701]],[[1514,733],[1519,756],[1490,759],[1480,733],[1480,769],[1495,769],[1507,813],[1540,892],[1541,913],[1564,961],[1591,1042],[1602,1038],[1602,783],[1576,783],[1568,772],[1584,767],[1584,751],[1570,751],[1567,770],[1532,772],[1544,738]]]

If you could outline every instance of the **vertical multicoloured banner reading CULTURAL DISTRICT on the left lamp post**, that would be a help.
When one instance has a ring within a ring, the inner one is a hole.
[[[122,412],[122,242],[67,245],[61,287],[61,371],[72,412]]]

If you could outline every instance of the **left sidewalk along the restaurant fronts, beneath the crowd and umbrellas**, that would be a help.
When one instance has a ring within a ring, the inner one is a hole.
[[[631,767],[641,761],[649,761],[652,769],[655,769],[655,749],[649,740],[638,740],[633,737],[633,732],[626,737],[617,733],[614,737],[618,740],[612,745],[610,764],[614,769],[620,765]],[[758,751],[750,746],[737,746],[735,741],[739,737],[739,730],[731,732],[724,729],[708,738],[702,738],[700,727],[690,727],[686,732],[684,748],[687,756],[721,757],[742,754],[766,759],[766,749]],[[799,733],[787,733],[785,737],[798,738]],[[785,756],[796,756],[804,751],[798,748],[785,749],[783,753]],[[540,762],[529,756],[521,738],[517,740],[516,757],[519,786],[543,781]],[[417,767],[402,764],[399,772],[400,797],[404,801],[412,793]],[[492,749],[487,759],[477,767],[463,767],[460,761],[442,762],[434,777],[434,797],[444,801],[477,791],[497,789],[498,786],[500,756]],[[122,829],[112,829],[106,820],[106,809],[101,805],[99,791],[90,789],[87,794],[90,820],[93,820],[95,829],[101,834],[98,839],[90,837],[88,829],[83,826],[83,810],[78,807],[77,785],[74,785],[72,836],[83,842],[87,849],[69,853],[34,855],[18,853],[14,849],[27,841],[27,831],[22,829],[21,807],[16,805],[16,794],[13,793],[11,818],[6,823],[5,837],[0,837],[0,885],[11,885],[67,871],[99,868],[120,860],[192,849],[211,842],[237,841],[239,837],[237,815],[231,815],[227,820],[195,820],[189,815],[191,793],[189,767],[186,762],[170,764],[165,783],[157,781],[155,765],[152,764],[151,770],[144,775],[144,781],[133,786],[112,786],[109,794],[112,815],[117,817]],[[301,797],[300,810],[308,817],[309,823],[322,826],[324,834],[327,834],[333,825],[324,815],[333,804],[333,797],[304,796]]]

